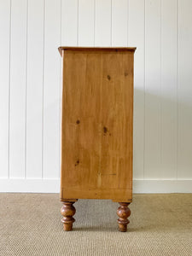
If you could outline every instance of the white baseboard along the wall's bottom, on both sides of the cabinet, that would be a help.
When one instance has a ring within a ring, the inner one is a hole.
[[[59,193],[60,179],[0,179],[0,192]],[[133,193],[192,193],[192,180],[134,180]]]

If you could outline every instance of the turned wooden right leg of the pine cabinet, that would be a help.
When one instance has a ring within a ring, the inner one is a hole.
[[[118,224],[119,224],[119,231],[126,232],[127,230],[127,224],[130,223],[129,219],[127,219],[130,214],[130,208],[128,207],[130,203],[127,202],[119,202],[120,207],[117,210],[118,218]]]

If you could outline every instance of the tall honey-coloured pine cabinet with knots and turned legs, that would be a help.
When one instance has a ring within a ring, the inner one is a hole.
[[[61,201],[72,230],[78,199],[132,201],[133,59],[136,48],[60,47],[63,61]]]

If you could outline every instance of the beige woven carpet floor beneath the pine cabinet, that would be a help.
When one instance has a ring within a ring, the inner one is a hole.
[[[117,203],[75,206],[64,232],[58,194],[0,194],[0,255],[192,255],[192,194],[134,195],[127,233]]]

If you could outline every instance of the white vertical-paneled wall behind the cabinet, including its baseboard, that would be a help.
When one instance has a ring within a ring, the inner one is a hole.
[[[136,46],[134,191],[192,192],[191,0],[0,0],[0,191],[58,192],[60,45]]]

